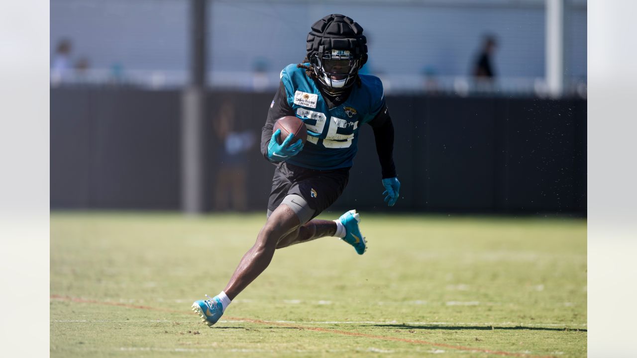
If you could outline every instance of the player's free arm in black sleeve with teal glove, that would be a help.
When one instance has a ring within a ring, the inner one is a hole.
[[[394,124],[389,116],[387,104],[384,103],[376,116],[369,121],[374,130],[374,139],[376,141],[376,154],[380,161],[381,173],[383,176],[383,187],[385,187],[385,202],[387,205],[394,206],[398,200],[400,182],[396,176],[396,165],[394,164]]]

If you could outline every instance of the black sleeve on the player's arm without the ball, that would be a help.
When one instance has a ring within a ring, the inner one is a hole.
[[[374,119],[369,121],[374,130],[376,141],[376,154],[380,161],[380,168],[383,179],[394,178],[396,176],[396,165],[394,164],[394,124],[389,116],[387,104],[383,103],[382,108]]]

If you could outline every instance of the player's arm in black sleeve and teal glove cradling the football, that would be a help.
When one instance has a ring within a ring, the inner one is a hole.
[[[276,120],[287,115],[293,116],[294,110],[292,110],[290,104],[287,103],[285,86],[283,86],[283,82],[280,82],[275,97],[270,104],[266,124],[261,129],[261,154],[269,162],[283,161],[297,154],[303,148],[301,141],[290,145],[290,141],[292,141],[293,137],[291,133],[288,138],[285,138],[283,143],[278,144],[277,138],[280,136],[280,131],[272,132]]]

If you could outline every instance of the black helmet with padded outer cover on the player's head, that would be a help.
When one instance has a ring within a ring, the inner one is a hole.
[[[347,16],[327,15],[312,25],[308,60],[327,92],[342,92],[354,84],[358,70],[367,62],[366,44],[361,25]]]

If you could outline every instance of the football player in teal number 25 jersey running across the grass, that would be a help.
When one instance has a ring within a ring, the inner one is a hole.
[[[400,182],[392,157],[394,127],[382,83],[375,76],[358,73],[368,58],[362,32],[361,25],[351,18],[328,15],[311,26],[303,64],[290,64],[281,71],[261,136],[262,154],[276,164],[268,220],[225,289],[192,304],[192,310],[208,326],[215,324],[234,297],[268,267],[277,248],[336,236],[352,245],[357,254],[364,254],[367,243],[355,210],[338,220],[315,219],[345,189],[363,124],[371,125],[374,131],[385,202],[389,206],[396,203]],[[272,132],[276,120],[283,116],[303,120],[308,131],[306,143],[291,143],[292,134],[279,138],[280,130]]]

